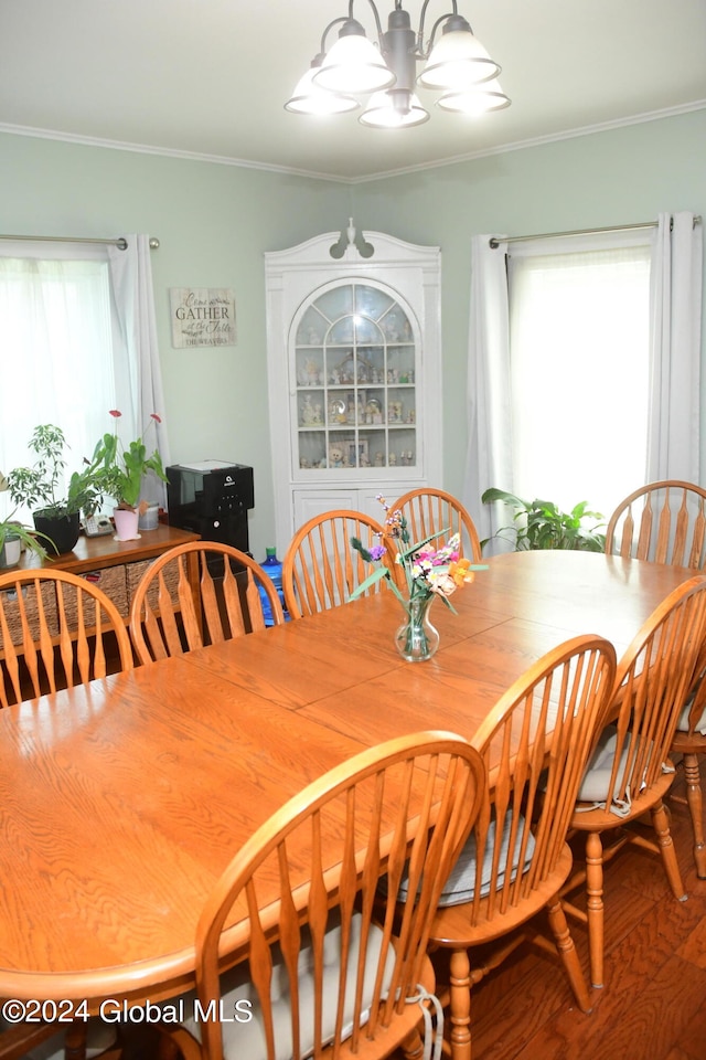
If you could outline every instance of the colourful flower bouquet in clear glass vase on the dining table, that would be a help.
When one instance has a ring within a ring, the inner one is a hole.
[[[402,511],[392,511],[385,498],[378,494],[376,498],[385,509],[383,539],[389,539],[395,544],[395,563],[404,571],[407,596],[404,595],[389,566],[376,568],[357,589],[351,594],[351,600],[360,596],[371,585],[385,577],[389,587],[397,595],[407,613],[407,618],[397,630],[395,643],[403,658],[409,661],[430,659],[439,646],[439,634],[429,621],[429,607],[437,597],[456,614],[450,596],[457,589],[472,582],[475,571],[488,570],[486,564],[471,563],[460,556],[460,537],[452,534],[447,543],[439,549],[431,547],[437,538],[448,533],[440,530],[424,541],[409,543],[407,520]],[[389,554],[383,541],[366,549],[359,538],[351,538],[351,544],[368,563],[375,563]],[[402,579],[400,579],[402,581]]]

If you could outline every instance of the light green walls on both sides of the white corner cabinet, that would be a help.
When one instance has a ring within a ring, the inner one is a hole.
[[[0,134],[0,190],[2,233],[160,240],[152,269],[172,458],[253,465],[259,558],[274,527],[264,252],[339,230],[351,214],[359,229],[441,246],[443,485],[460,492],[471,235],[706,216],[706,110],[355,186]],[[235,289],[236,347],[171,348],[169,288],[190,286]]]

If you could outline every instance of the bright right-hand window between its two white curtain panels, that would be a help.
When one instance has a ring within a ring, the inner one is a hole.
[[[509,254],[514,491],[608,516],[645,480],[650,245],[535,246]]]

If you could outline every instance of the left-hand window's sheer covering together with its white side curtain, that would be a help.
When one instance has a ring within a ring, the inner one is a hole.
[[[122,255],[111,268],[109,252]],[[93,244],[0,244],[0,469],[30,463],[34,426],[55,423],[67,439],[67,473],[81,467],[120,409],[120,436],[145,427],[141,405],[163,413],[147,236],[128,250]],[[143,321],[147,321],[145,324]],[[140,335],[147,329],[149,342]],[[149,354],[145,353],[145,350]],[[147,391],[147,396],[140,395]],[[165,463],[167,428],[150,431]],[[161,502],[161,494],[160,494]],[[0,513],[10,511],[7,494]],[[18,516],[31,522],[29,511]]]

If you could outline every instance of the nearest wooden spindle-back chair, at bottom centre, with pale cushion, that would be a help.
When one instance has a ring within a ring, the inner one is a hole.
[[[478,752],[427,732],[363,751],[290,799],[237,851],[196,932],[201,1010],[217,1014],[222,997],[224,1013],[253,1018],[165,1025],[185,1060],[420,1057],[429,924],[483,788]],[[403,878],[417,900],[396,922]]]

